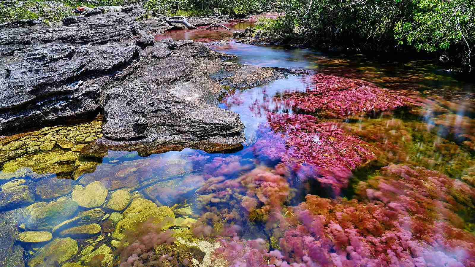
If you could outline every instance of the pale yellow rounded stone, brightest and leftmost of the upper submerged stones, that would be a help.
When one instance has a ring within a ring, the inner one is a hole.
[[[92,182],[83,188],[75,189],[72,193],[72,200],[85,208],[99,207],[104,204],[108,190],[100,181]]]

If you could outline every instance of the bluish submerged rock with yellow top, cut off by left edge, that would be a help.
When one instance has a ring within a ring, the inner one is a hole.
[[[0,210],[11,210],[35,202],[35,195],[28,185],[18,185],[0,191]]]

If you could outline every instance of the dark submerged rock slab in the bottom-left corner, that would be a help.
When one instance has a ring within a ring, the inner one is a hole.
[[[24,208],[0,212],[0,266],[24,267],[23,247],[15,245],[19,234],[16,224]]]

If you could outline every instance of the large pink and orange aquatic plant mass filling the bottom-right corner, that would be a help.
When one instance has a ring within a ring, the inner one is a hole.
[[[475,266],[475,237],[453,211],[473,207],[473,187],[390,165],[357,192],[360,201],[307,195],[274,230],[279,251],[235,236],[222,239],[215,255],[230,266]]]

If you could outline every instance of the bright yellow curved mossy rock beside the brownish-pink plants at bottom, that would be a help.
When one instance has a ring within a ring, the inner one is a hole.
[[[175,214],[167,206],[149,208],[138,213],[129,213],[124,219],[120,220],[115,226],[112,238],[115,240],[122,240],[124,238],[124,231],[135,229],[140,223],[147,219],[153,218],[154,223],[160,223],[165,219],[169,221],[162,227],[168,229],[173,225]]]

